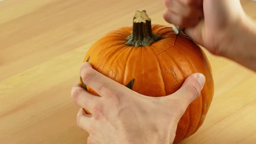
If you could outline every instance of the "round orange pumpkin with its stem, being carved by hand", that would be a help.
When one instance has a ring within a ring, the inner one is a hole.
[[[133,26],[121,27],[98,39],[86,53],[85,61],[103,75],[151,97],[170,95],[188,75],[203,73],[205,85],[200,97],[181,117],[174,143],[194,134],[203,124],[214,90],[207,56],[191,39],[175,34],[172,27],[151,25],[145,10],[136,11]],[[80,83],[85,90],[98,95],[81,77]]]

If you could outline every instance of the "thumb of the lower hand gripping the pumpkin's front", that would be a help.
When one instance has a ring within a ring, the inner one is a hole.
[[[181,98],[181,101],[187,107],[200,96],[201,90],[205,83],[205,77],[201,73],[194,73],[189,75],[181,88],[177,90],[172,96]]]

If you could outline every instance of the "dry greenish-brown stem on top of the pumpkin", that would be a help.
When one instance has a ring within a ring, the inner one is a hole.
[[[151,28],[151,19],[146,10],[136,11],[133,18],[132,33],[126,39],[128,46],[149,46],[162,36],[155,35]]]

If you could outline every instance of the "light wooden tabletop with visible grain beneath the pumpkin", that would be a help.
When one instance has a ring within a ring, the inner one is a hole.
[[[241,0],[256,19],[256,2]],[[131,26],[135,10],[162,18],[162,0],[0,1],[0,144],[86,144],[70,89],[100,36]],[[256,144],[256,74],[207,52],[215,94],[207,118],[181,144]]]

